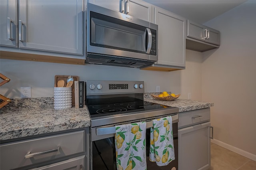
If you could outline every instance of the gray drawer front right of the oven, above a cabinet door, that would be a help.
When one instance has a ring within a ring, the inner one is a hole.
[[[210,121],[210,108],[179,113],[178,128],[189,127]]]

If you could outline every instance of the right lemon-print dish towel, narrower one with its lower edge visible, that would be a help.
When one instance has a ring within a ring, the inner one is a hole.
[[[168,165],[175,159],[171,116],[153,120],[153,127],[150,128],[149,158],[158,166]]]

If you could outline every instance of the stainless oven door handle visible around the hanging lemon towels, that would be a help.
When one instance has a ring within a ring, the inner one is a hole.
[[[178,115],[172,116],[172,123],[177,123]],[[153,121],[146,122],[146,128],[153,127]],[[96,128],[96,135],[113,134],[116,133],[116,127]]]

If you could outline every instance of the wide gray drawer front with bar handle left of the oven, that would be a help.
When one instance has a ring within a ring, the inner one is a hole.
[[[0,146],[0,169],[19,168],[81,153],[85,151],[84,146],[83,130],[3,144]],[[34,153],[41,154],[33,156]],[[31,157],[25,156],[28,154]]]

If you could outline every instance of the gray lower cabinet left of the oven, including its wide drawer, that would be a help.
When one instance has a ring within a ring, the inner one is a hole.
[[[89,129],[0,145],[0,169],[89,170]]]

